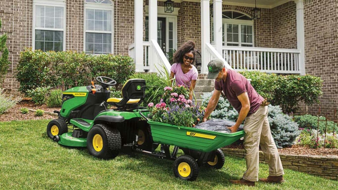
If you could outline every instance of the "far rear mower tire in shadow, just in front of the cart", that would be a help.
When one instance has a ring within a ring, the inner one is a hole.
[[[142,127],[138,128],[137,131],[138,141],[137,146],[138,148],[145,150],[145,151],[152,151],[152,136],[150,126],[148,124],[143,125]]]

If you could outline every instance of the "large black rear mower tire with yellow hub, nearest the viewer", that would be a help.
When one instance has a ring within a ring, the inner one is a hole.
[[[97,144],[94,137],[95,139],[101,138],[102,147],[94,147],[94,144]],[[95,141],[94,143],[93,139]],[[87,148],[89,154],[95,157],[101,159],[113,159],[120,153],[121,150],[121,134],[119,130],[109,128],[105,124],[96,124],[88,132]]]

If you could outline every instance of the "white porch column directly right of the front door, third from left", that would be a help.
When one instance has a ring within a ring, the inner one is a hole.
[[[207,74],[208,69],[208,52],[206,43],[210,43],[210,1],[201,0],[201,50],[202,50],[202,65],[201,74]]]

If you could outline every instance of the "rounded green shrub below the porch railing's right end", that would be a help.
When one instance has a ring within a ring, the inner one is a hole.
[[[284,113],[291,113],[297,111],[301,101],[306,105],[319,103],[322,82],[319,77],[311,75],[280,76],[277,80],[274,104],[281,105]]]

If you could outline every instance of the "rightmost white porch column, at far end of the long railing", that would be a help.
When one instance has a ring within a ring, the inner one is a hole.
[[[305,40],[304,40],[304,2],[296,0],[297,11],[297,49],[300,50],[299,70],[300,75],[305,75]]]

